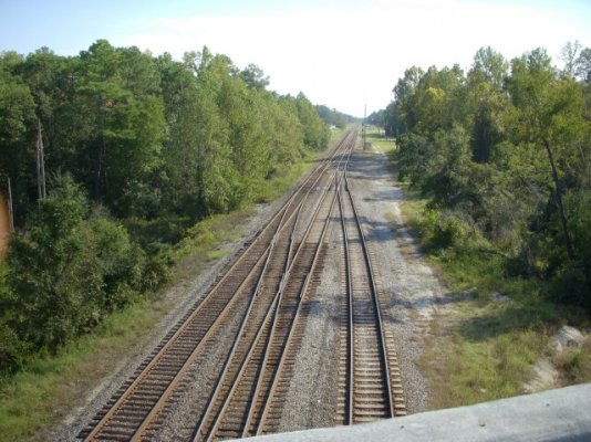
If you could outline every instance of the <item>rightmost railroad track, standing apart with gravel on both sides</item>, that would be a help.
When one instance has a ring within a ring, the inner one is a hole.
[[[339,188],[342,301],[339,417],[342,424],[406,414],[393,335],[351,192],[346,168]]]

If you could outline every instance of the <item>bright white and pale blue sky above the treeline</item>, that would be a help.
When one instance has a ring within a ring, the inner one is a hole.
[[[98,39],[177,60],[206,45],[260,66],[270,90],[363,116],[406,69],[469,70],[483,46],[541,46],[561,65],[567,42],[591,46],[591,0],[0,0],[0,52],[76,55]]]

